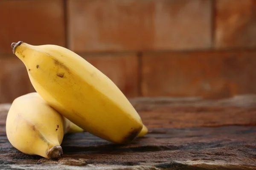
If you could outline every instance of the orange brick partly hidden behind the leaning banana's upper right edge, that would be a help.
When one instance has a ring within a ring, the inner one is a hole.
[[[138,95],[136,54],[96,54],[84,58],[108,76],[127,97]]]

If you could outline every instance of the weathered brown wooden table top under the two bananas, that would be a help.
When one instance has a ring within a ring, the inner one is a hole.
[[[58,160],[16,150],[5,133],[9,104],[0,106],[0,169],[256,170],[256,96],[205,101],[131,99],[149,133],[117,145],[87,132],[67,134]]]

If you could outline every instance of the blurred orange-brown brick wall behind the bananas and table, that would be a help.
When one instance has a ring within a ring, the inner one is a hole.
[[[35,91],[17,41],[69,48],[129,98],[256,93],[256,0],[0,0],[0,103]]]

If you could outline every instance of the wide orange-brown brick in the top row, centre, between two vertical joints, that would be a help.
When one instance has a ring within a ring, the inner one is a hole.
[[[76,52],[211,47],[210,0],[68,0]]]

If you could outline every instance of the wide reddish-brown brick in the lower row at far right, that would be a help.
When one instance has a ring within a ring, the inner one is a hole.
[[[143,96],[230,97],[256,93],[256,51],[144,54]]]

